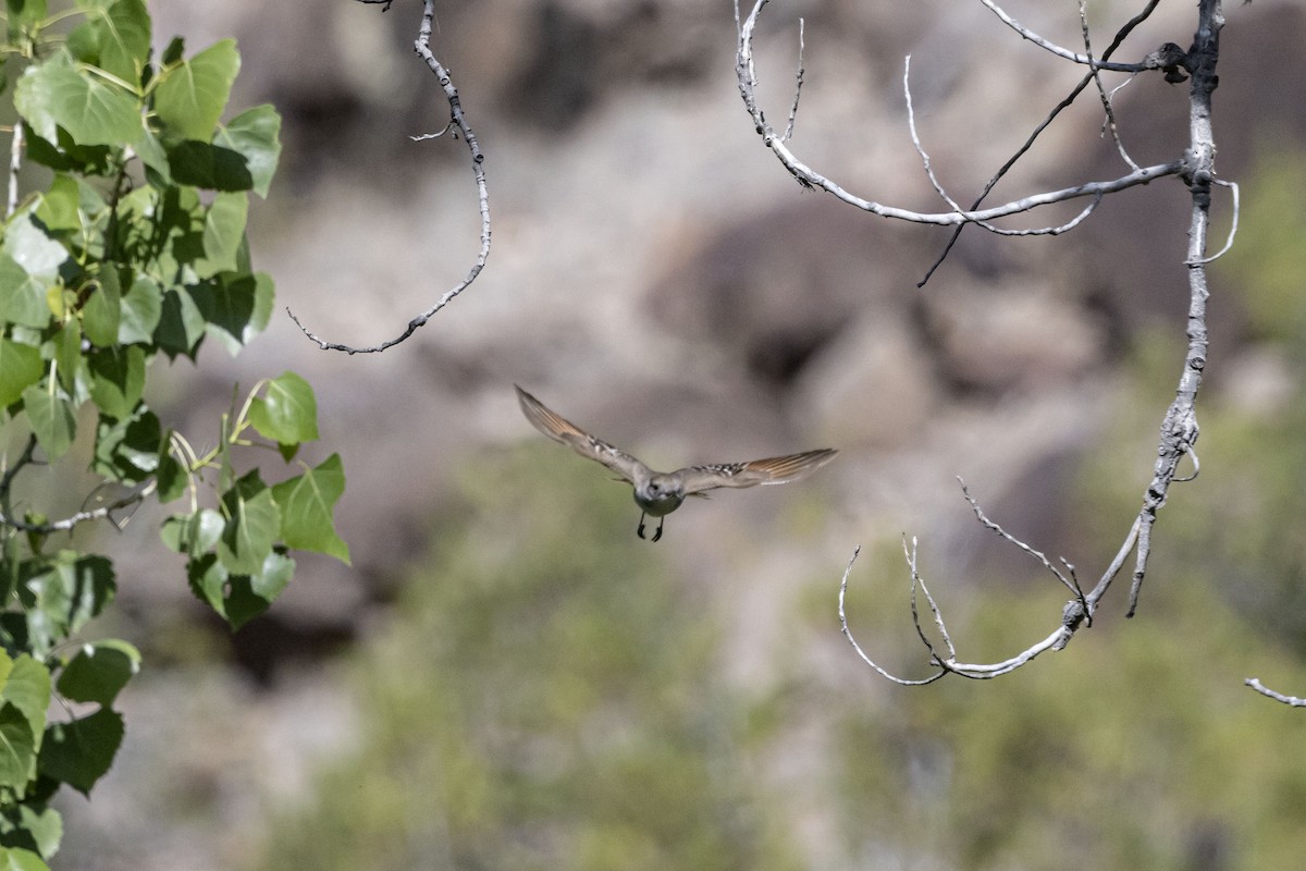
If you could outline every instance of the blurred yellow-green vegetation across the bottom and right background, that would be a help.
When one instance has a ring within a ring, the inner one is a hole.
[[[1306,172],[1271,162],[1245,192],[1242,253],[1213,279],[1250,312],[1254,345],[1237,350],[1282,360],[1294,393],[1249,406],[1220,383],[1234,349],[1212,350],[1202,474],[1161,512],[1134,620],[1126,569],[1066,652],[901,688],[838,637],[848,554],[832,554],[776,603],[785,626],[754,652],[755,686],[733,686],[721,639],[738,603],[635,538],[627,487],[549,447],[488,457],[350,666],[359,750],[274,820],[260,867],[1299,867],[1306,713],[1242,680],[1306,695],[1303,201]],[[1087,584],[1138,509],[1181,360],[1173,338],[1136,343],[1132,400],[1066,498]],[[853,629],[891,670],[927,674],[901,543],[863,545]],[[1066,594],[1033,567],[935,577],[930,547],[922,569],[965,658],[1059,619]]]

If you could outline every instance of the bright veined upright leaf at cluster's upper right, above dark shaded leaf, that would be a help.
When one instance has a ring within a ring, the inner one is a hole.
[[[165,69],[154,91],[154,111],[183,138],[208,142],[240,69],[234,39],[209,46],[191,60]]]

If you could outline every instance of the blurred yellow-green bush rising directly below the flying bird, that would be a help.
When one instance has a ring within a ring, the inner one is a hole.
[[[468,470],[351,669],[360,748],[261,867],[799,867],[712,610],[584,471],[549,448]]]

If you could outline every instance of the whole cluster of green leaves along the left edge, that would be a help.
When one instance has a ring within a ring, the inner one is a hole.
[[[0,424],[25,445],[0,470],[0,867],[40,868],[61,834],[47,802],[61,784],[89,793],[108,770],[123,735],[112,704],[141,662],[124,641],[73,641],[112,602],[115,572],[107,556],[51,539],[120,524],[149,498],[180,501],[163,543],[234,628],[285,589],[293,550],[345,562],[349,550],[332,522],[340,457],[296,460],[317,437],[302,377],[256,384],[206,452],[146,400],[161,356],[197,360],[206,341],[235,354],[273,309],[246,230],[249,195],[266,196],[277,168],[281,118],[257,106],[222,121],[235,42],[187,54],[174,39],[155,56],[144,0],[56,12],[5,0],[4,13],[14,154],[46,170],[25,178],[48,184],[20,196],[14,168],[0,225]],[[238,462],[248,447],[298,474],[265,482]],[[50,505],[17,498],[20,477],[50,481],[52,466],[78,460],[99,482],[82,511],[51,520]],[[67,717],[47,721],[51,699]]]

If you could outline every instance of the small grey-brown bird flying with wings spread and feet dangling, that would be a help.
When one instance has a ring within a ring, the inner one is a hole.
[[[640,525],[636,534],[645,538],[645,518],[658,518],[652,541],[662,538],[666,516],[680,507],[688,496],[707,499],[705,491],[718,487],[755,487],[757,484],[784,484],[816,471],[838,453],[832,448],[804,451],[784,457],[767,457],[747,462],[721,462],[705,466],[686,466],[675,471],[654,471],[646,465],[592,436],[579,426],[550,410],[543,402],[516,384],[517,401],[530,424],[542,434],[569,445],[576,453],[615,471],[622,481],[635,488],[635,504],[640,507]]]

